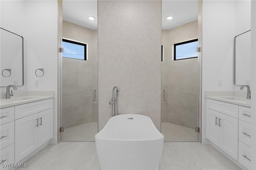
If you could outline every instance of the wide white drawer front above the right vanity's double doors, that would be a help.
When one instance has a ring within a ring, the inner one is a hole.
[[[207,99],[207,108],[238,118],[238,105]]]

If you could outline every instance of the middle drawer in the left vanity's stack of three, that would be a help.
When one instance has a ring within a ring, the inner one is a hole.
[[[0,125],[0,149],[14,143],[14,121]]]

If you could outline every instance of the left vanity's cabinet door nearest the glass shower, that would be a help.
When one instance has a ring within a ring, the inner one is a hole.
[[[53,109],[38,113],[38,147],[53,137]]]

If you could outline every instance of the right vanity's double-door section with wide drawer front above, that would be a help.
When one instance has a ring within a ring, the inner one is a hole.
[[[206,126],[206,138],[238,160],[238,106],[207,99]]]

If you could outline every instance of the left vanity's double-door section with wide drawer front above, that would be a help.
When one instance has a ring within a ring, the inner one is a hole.
[[[48,99],[15,106],[16,163],[53,137],[52,103]]]

